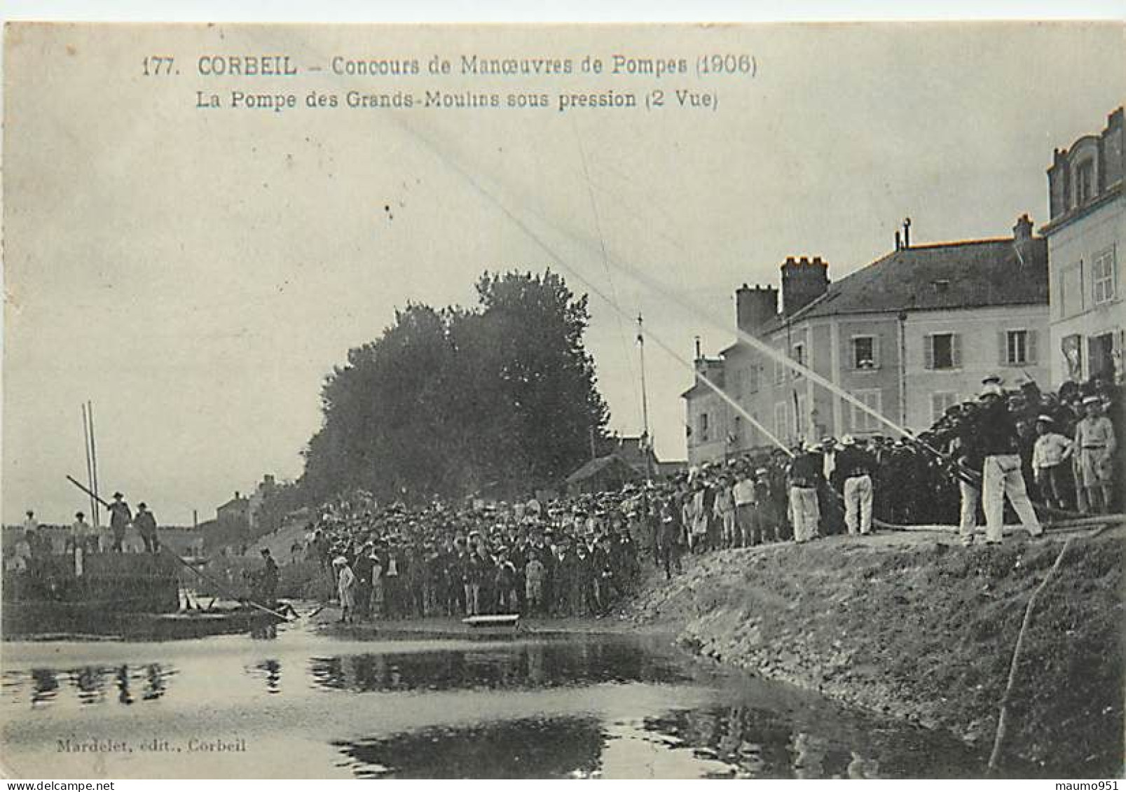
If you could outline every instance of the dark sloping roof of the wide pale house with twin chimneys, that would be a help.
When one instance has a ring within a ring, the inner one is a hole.
[[[1047,240],[1034,237],[1021,255],[1013,238],[917,245],[893,251],[830,284],[824,295],[778,315],[766,335],[804,320],[900,310],[949,310],[1047,305]]]

